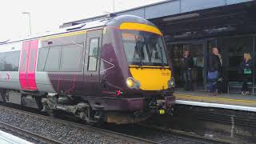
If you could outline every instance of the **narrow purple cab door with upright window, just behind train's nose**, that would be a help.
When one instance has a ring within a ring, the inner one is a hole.
[[[91,30],[86,37],[86,60],[84,70],[84,83],[86,95],[97,95],[100,90],[99,63],[102,46],[102,30]]]

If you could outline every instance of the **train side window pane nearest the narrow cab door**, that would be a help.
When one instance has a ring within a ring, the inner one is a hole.
[[[82,70],[83,43],[62,46],[61,71]]]

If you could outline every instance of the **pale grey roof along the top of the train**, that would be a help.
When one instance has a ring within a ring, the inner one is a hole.
[[[111,15],[110,17],[106,17],[101,20],[97,20],[94,22],[85,22],[85,23],[81,23],[78,25],[65,27],[65,28],[56,30],[54,32],[45,32],[42,34],[33,34],[26,38],[15,38],[15,39],[6,40],[4,42],[0,42],[0,45],[12,43],[12,42],[22,42],[22,41],[36,39],[36,38],[43,38],[43,37],[48,37],[48,36],[52,36],[52,35],[56,35],[56,34],[65,34],[65,33],[70,33],[70,32],[79,31],[79,30],[88,30],[88,29],[98,28],[98,27],[102,27],[102,26],[119,27],[122,24],[122,22],[135,22],[135,23],[142,23],[142,24],[154,26],[153,23],[147,21],[144,18],[140,18],[138,16],[120,15],[120,16],[115,17],[115,16]]]

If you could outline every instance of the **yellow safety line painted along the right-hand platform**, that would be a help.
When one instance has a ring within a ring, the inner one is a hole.
[[[250,101],[250,100],[243,100],[243,99],[230,99],[230,98],[208,98],[205,96],[195,96],[195,95],[189,95],[189,94],[175,94],[178,97],[183,97],[183,98],[204,98],[204,99],[214,99],[214,100],[226,100],[226,101],[233,101],[233,102],[254,102],[256,101]]]

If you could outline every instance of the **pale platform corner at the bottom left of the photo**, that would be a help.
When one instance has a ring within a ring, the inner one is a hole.
[[[12,134],[8,134],[0,130],[0,143],[1,144],[32,144],[22,138],[18,138]]]

